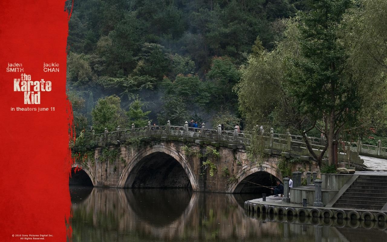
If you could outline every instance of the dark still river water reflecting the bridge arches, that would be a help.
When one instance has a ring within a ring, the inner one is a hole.
[[[387,241],[385,223],[245,212],[256,195],[70,186],[73,242]]]

